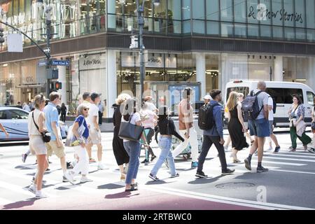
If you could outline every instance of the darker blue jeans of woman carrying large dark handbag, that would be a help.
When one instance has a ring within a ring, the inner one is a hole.
[[[139,141],[125,141],[125,150],[130,157],[129,167],[126,176],[126,184],[131,184],[132,179],[137,179],[139,169],[139,156],[140,156],[140,142]]]

